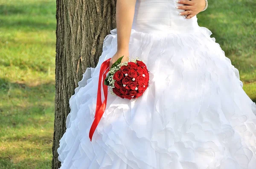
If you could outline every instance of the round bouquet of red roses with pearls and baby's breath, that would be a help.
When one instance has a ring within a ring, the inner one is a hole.
[[[113,95],[122,99],[136,99],[148,87],[148,69],[138,58],[121,63],[122,58],[113,63],[104,84],[109,86]]]

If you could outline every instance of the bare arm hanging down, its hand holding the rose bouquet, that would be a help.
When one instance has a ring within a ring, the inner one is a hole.
[[[110,60],[110,66],[123,56],[122,62],[128,61],[131,27],[134,19],[136,0],[117,0],[116,2],[116,31],[117,52]]]

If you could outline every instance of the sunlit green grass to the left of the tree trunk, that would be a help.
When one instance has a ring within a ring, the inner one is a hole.
[[[55,0],[0,0],[0,169],[49,169]]]

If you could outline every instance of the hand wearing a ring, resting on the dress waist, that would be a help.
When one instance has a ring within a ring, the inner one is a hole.
[[[178,9],[186,10],[181,12],[180,15],[187,15],[186,18],[190,19],[197,15],[199,12],[203,11],[206,3],[205,0],[178,0],[180,4],[185,4],[184,6],[178,6]]]

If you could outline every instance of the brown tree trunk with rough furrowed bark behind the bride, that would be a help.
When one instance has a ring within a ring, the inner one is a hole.
[[[116,0],[56,0],[55,120],[52,169],[66,131],[69,99],[87,67],[96,67],[103,40],[116,27]]]

